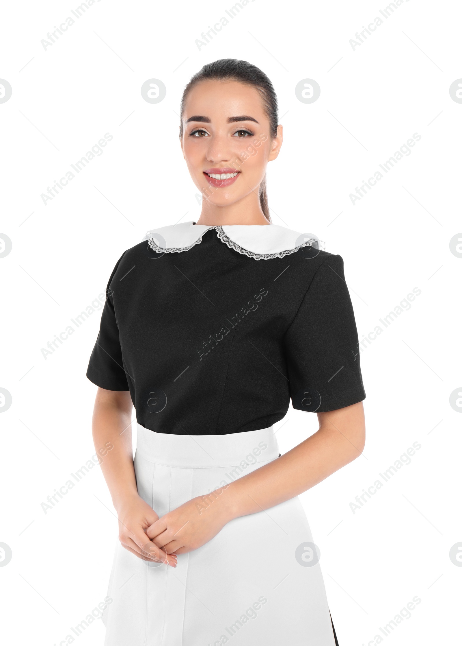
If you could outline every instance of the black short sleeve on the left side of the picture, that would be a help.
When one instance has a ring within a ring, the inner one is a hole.
[[[114,271],[112,271],[109,278],[106,289],[106,302],[101,313],[99,334],[86,371],[86,376],[90,381],[106,390],[130,390],[123,368],[119,328],[117,327],[116,312],[114,311],[114,292],[110,287],[123,255],[117,261],[116,267],[114,267]]]

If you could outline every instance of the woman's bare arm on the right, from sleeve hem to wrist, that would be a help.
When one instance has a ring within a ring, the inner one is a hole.
[[[226,519],[283,503],[360,455],[364,446],[362,403],[319,417],[320,427],[314,435],[217,492],[217,501]]]

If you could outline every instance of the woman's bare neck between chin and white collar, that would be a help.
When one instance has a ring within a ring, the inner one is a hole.
[[[217,205],[203,198],[202,211],[197,225],[226,226],[230,224],[270,224],[261,210],[259,197],[256,193],[248,194],[239,202]]]

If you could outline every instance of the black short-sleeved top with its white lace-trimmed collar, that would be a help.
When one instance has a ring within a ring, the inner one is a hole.
[[[290,234],[292,249],[268,253],[230,238],[271,250]],[[130,390],[139,424],[221,435],[275,424],[291,397],[310,412],[365,399],[341,256],[277,225],[185,223],[150,236],[114,267],[87,371],[101,388]]]

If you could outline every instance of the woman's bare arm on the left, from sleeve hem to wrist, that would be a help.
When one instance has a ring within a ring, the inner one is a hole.
[[[99,388],[92,420],[93,440],[116,510],[126,499],[137,495],[131,421],[132,402],[128,393]],[[108,446],[112,448],[105,452]]]

